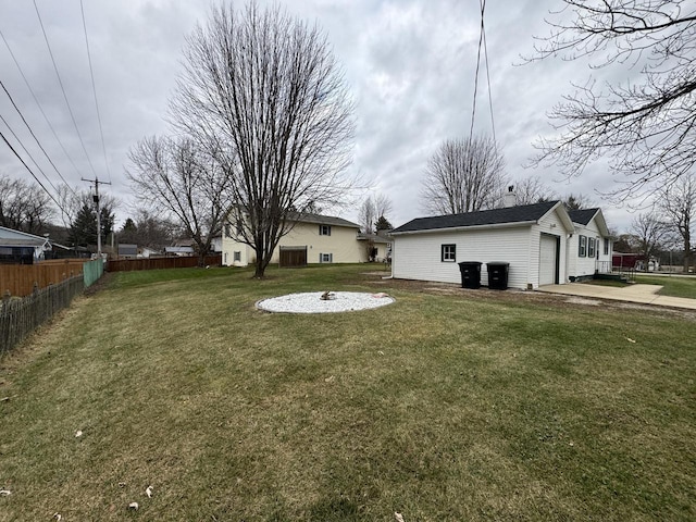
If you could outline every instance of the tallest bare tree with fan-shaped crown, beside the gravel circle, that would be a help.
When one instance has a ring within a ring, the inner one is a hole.
[[[231,179],[229,221],[256,251],[256,277],[294,210],[336,204],[350,182],[352,103],[325,35],[278,7],[213,9],[184,52],[170,120]]]

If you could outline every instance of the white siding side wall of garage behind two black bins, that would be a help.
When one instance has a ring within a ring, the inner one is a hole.
[[[456,262],[442,261],[442,246],[456,245]],[[537,257],[538,257],[538,244]],[[488,284],[486,263],[510,263],[508,286],[526,288],[529,282],[530,226],[471,228],[457,232],[424,232],[394,237],[394,277],[461,284],[459,264],[478,261],[481,283]],[[538,279],[538,272],[536,275]]]

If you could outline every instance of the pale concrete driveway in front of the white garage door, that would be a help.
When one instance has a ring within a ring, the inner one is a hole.
[[[630,285],[624,287],[589,285],[583,283],[568,283],[566,285],[539,286],[539,291],[564,294],[595,299],[613,299],[617,301],[657,304],[660,307],[686,308],[696,310],[696,299],[683,297],[658,296],[660,285]]]

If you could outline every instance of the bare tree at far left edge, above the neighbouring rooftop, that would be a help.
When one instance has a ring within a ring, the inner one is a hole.
[[[44,234],[54,213],[51,197],[38,185],[0,176],[0,226]]]

